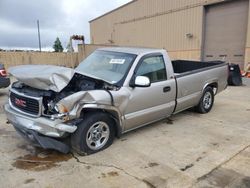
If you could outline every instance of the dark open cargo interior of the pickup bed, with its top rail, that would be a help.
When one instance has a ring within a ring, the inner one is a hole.
[[[210,61],[210,62],[201,62],[201,61],[188,61],[188,60],[175,60],[172,61],[173,69],[175,75],[184,76],[187,74],[192,74],[195,72],[200,72],[208,70],[211,68],[219,67],[225,65],[223,61]]]

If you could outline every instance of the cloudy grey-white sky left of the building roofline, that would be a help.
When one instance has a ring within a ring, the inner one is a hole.
[[[88,21],[131,0],[0,0],[0,48],[37,48],[36,20],[42,46],[49,49],[58,36],[64,47],[73,34],[89,40]]]

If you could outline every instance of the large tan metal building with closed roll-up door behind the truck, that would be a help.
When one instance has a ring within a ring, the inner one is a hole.
[[[250,64],[249,0],[134,0],[90,21],[91,43]]]

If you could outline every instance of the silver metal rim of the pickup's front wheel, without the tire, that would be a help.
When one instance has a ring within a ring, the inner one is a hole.
[[[99,121],[94,123],[86,135],[87,146],[92,150],[101,149],[107,143],[110,135],[107,123]]]

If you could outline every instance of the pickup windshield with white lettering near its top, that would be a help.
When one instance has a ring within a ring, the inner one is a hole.
[[[133,54],[97,50],[83,60],[76,71],[117,84],[125,78],[135,57]]]

